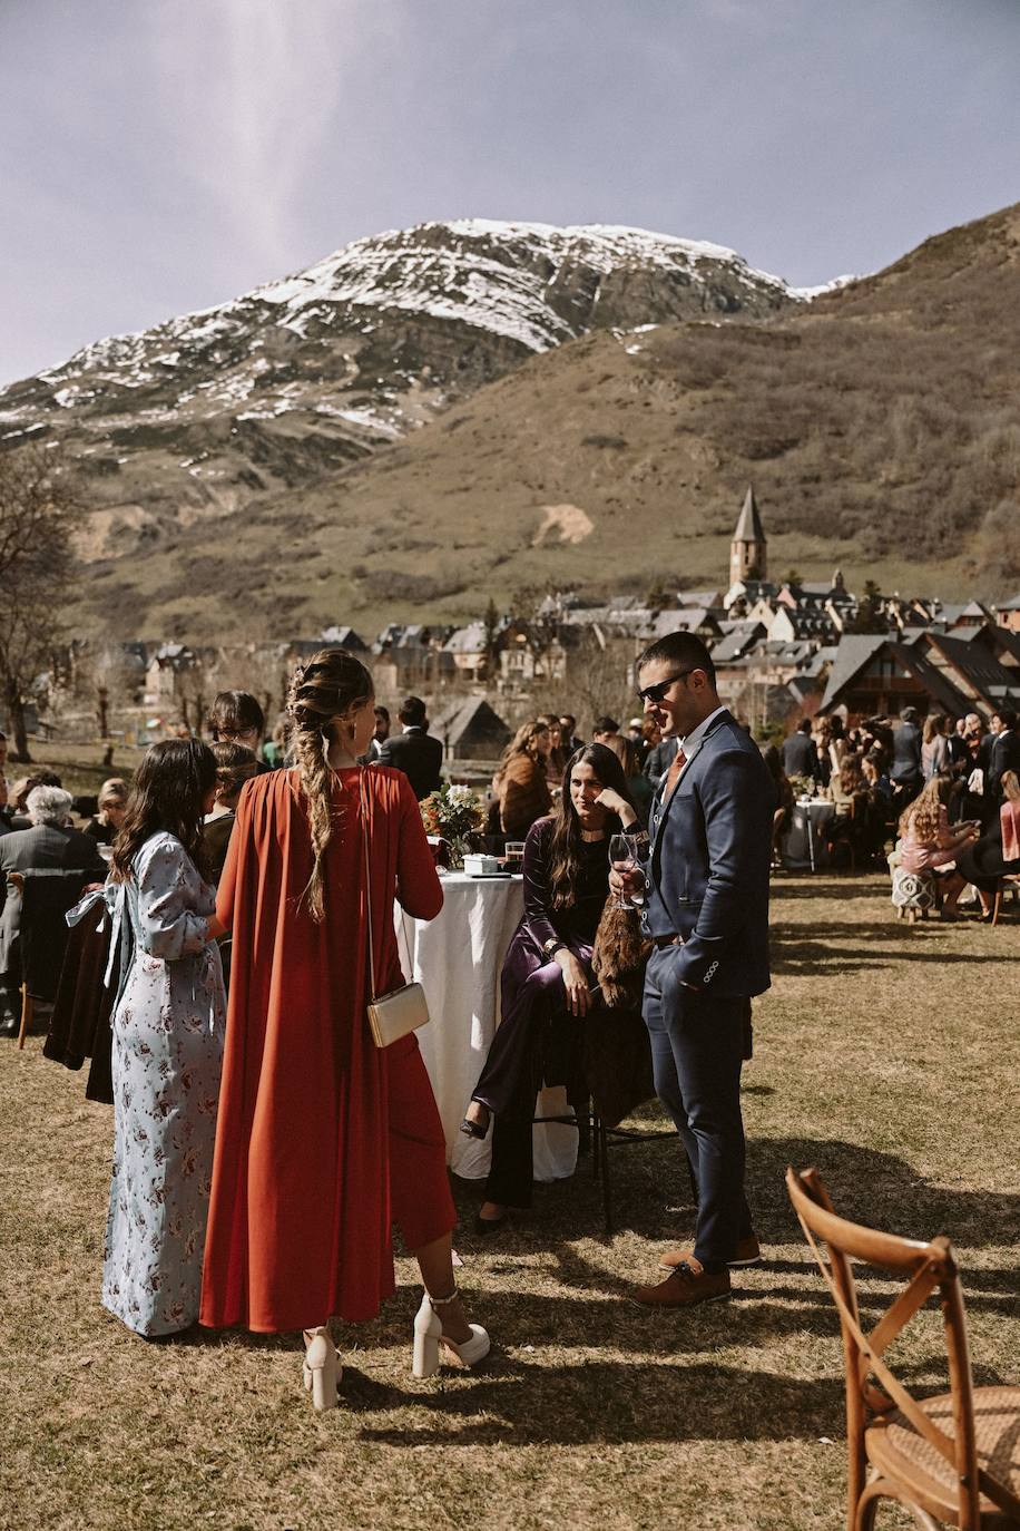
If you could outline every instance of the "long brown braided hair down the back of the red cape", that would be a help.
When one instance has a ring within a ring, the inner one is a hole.
[[[346,649],[320,649],[310,660],[295,668],[287,687],[289,744],[307,802],[315,856],[312,876],[301,897],[307,899],[309,914],[317,925],[321,925],[326,912],[323,857],[333,833],[327,759],[333,738],[333,720],[349,715],[362,703],[372,701],[373,697],[372,675],[361,660],[356,660]]]

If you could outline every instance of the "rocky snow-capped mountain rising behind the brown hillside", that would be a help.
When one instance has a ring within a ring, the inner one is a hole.
[[[586,331],[795,302],[719,245],[598,225],[424,224],[15,383],[0,393],[0,446],[63,439],[135,522],[182,502],[234,510],[364,456]]]

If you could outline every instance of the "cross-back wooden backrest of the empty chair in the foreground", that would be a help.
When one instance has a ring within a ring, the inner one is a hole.
[[[922,1243],[838,1217],[817,1170],[797,1173],[788,1168],[786,1188],[840,1312],[846,1363],[852,1490],[855,1479],[862,1479],[866,1425],[872,1419],[899,1409],[914,1430],[953,1465],[959,1485],[957,1523],[962,1528],[979,1525],[982,1493],[1006,1513],[1017,1514],[1020,1500],[977,1465],[966,1318],[950,1240],[937,1237],[930,1243]],[[826,1245],[827,1260],[820,1249],[820,1242]],[[869,1330],[861,1324],[852,1260],[878,1266],[884,1274],[893,1272],[907,1280],[895,1301]],[[953,1436],[940,1430],[930,1415],[918,1407],[885,1361],[888,1346],[936,1291],[942,1307],[950,1392],[953,1395]]]

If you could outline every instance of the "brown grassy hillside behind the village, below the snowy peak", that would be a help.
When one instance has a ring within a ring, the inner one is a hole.
[[[89,566],[80,619],[206,641],[460,622],[549,586],[725,588],[748,482],[778,579],[841,565],[858,589],[1012,594],[1018,299],[1006,208],[772,320],[584,335],[341,468],[292,442],[284,490],[239,472],[179,510],[180,467],[154,456],[133,493],[171,508],[144,540],[138,505],[115,513],[124,556]],[[249,426],[257,461],[284,427]],[[537,545],[551,505],[592,533]]]

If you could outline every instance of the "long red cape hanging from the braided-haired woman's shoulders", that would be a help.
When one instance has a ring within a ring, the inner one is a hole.
[[[421,919],[442,888],[407,776],[339,772],[326,919],[295,770],[251,781],[219,888],[234,934],[200,1321],[260,1332],[372,1318],[393,1292],[387,1055],[367,1004],[358,778],[372,847],[376,986],[398,986],[393,897]]]

